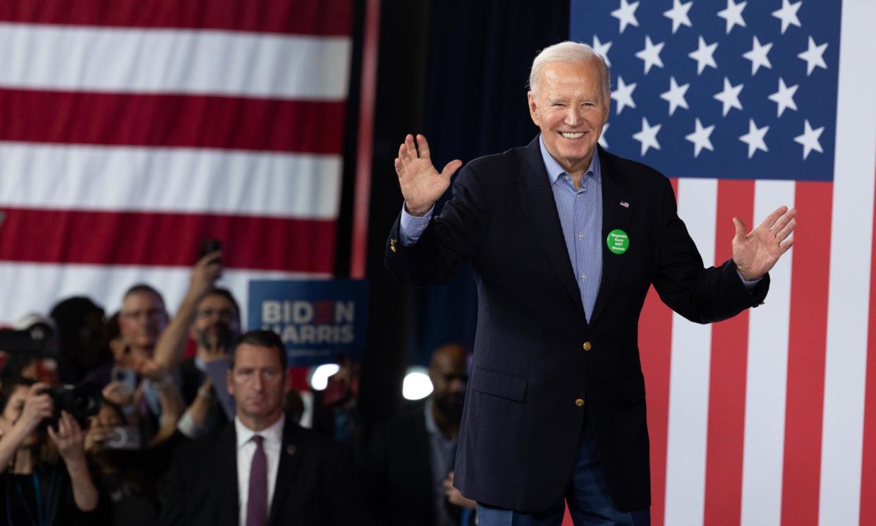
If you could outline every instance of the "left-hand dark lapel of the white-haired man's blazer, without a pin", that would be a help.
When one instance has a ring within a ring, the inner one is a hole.
[[[581,291],[575,281],[575,272],[569,260],[569,249],[566,248],[566,241],[562,237],[560,215],[556,211],[554,192],[551,190],[548,172],[541,158],[538,137],[535,137],[524,151],[523,166],[517,180],[517,197],[541,248],[544,249],[551,266],[569,293],[569,298],[577,305],[583,318]]]

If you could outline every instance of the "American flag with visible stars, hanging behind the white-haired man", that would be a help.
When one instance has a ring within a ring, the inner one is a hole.
[[[766,305],[640,320],[654,524],[876,524],[872,0],[573,0],[611,63],[601,142],[665,173],[706,264],[800,211]],[[868,354],[871,360],[867,361]]]

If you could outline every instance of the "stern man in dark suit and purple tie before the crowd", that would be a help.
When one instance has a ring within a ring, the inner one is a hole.
[[[230,354],[234,423],[183,447],[159,524],[265,526],[370,523],[341,445],[286,419],[286,347],[244,333]]]

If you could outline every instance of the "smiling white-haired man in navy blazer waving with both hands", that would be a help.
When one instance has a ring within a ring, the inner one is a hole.
[[[526,147],[438,172],[426,137],[407,136],[395,169],[405,205],[386,246],[402,284],[435,284],[470,261],[475,352],[454,482],[478,523],[632,524],[650,505],[638,321],[653,284],[699,323],[759,305],[767,272],[793,244],[795,210],[747,232],[733,218],[731,259],[710,269],[652,168],[598,147],[608,68],[563,42],[533,61]],[[731,221],[731,218],[726,218]]]

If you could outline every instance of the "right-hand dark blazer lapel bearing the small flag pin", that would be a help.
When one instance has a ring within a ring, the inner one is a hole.
[[[597,302],[593,306],[593,315],[590,317],[590,326],[596,323],[599,316],[604,312],[605,306],[608,305],[611,291],[613,291],[615,284],[617,284],[618,277],[621,275],[627,260],[625,254],[611,252],[606,244],[606,239],[609,232],[615,229],[623,230],[629,235],[628,228],[630,226],[632,208],[634,207],[630,194],[623,186],[618,184],[619,176],[612,170],[613,163],[611,163],[611,158],[601,148],[598,149],[598,154],[602,168],[603,231],[601,247],[603,273],[602,282],[599,284]],[[632,238],[629,241],[631,243],[636,242]]]

